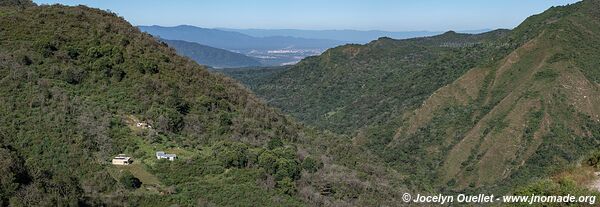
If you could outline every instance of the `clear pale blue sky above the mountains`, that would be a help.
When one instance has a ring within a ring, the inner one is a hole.
[[[109,9],[134,25],[445,31],[513,28],[577,0],[34,0]]]

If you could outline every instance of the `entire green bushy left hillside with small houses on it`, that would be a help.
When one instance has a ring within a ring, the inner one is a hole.
[[[0,206],[400,198],[400,175],[349,138],[296,124],[113,13],[0,5]],[[112,165],[118,154],[133,163]]]

